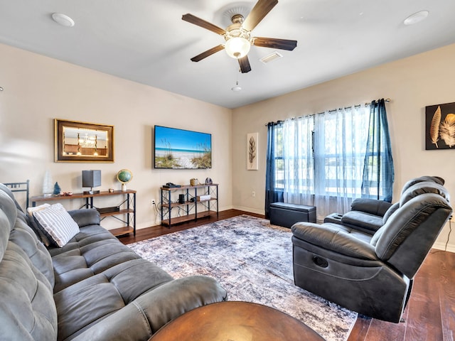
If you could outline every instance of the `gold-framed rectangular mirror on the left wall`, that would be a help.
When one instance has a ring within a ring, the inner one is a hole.
[[[55,119],[55,162],[114,162],[114,126]]]

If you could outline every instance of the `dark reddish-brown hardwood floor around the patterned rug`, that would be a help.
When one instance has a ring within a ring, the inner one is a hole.
[[[216,217],[187,222],[171,227],[138,229],[136,237],[121,237],[124,244],[139,242],[189,229],[237,215],[255,215],[239,210],[226,210]],[[359,316],[348,341],[454,341],[455,332],[455,254],[432,249],[414,278],[414,288],[403,315],[405,322],[388,323]]]

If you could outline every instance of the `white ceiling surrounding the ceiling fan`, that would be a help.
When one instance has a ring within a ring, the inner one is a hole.
[[[245,74],[225,51],[191,62],[223,37],[183,14],[225,28],[225,12],[255,2],[0,0],[0,43],[228,108],[455,43],[453,0],[279,0],[252,36],[298,40],[294,51],[266,65],[259,58],[275,50],[252,46]],[[404,25],[422,10],[426,20]],[[55,12],[75,26],[55,23]],[[237,81],[242,91],[232,92]]]

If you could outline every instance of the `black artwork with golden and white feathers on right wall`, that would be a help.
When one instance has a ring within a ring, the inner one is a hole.
[[[425,107],[425,149],[455,149],[455,102]]]

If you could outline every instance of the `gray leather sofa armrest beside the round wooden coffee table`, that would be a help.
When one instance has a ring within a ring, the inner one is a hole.
[[[226,298],[225,289],[213,278],[178,278],[144,293],[72,340],[148,340],[163,325],[189,310]]]

